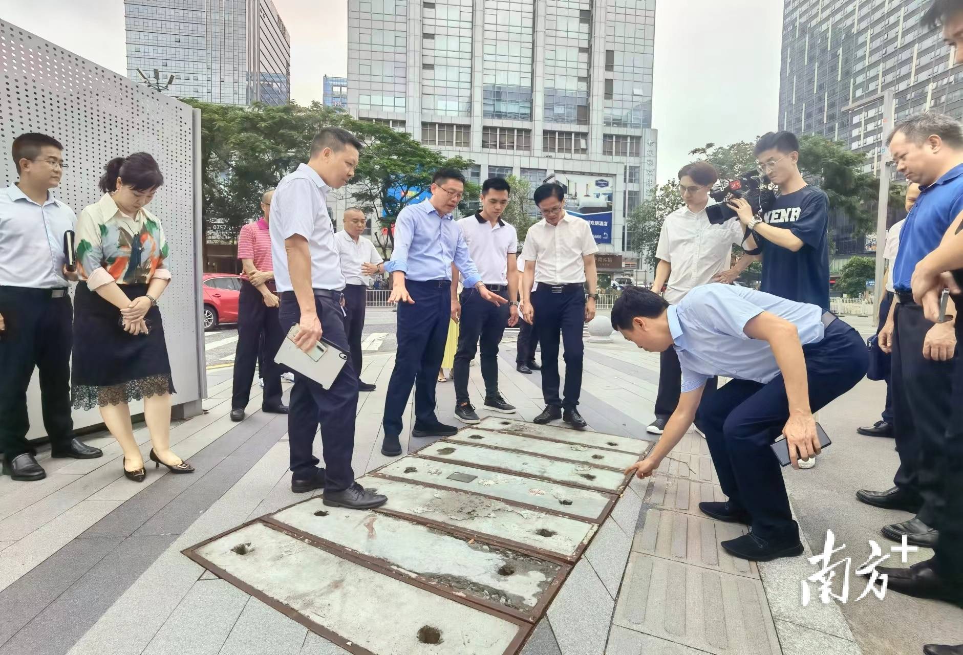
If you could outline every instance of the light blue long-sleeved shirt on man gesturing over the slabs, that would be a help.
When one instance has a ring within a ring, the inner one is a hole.
[[[402,271],[406,279],[427,282],[452,279],[452,262],[466,287],[481,282],[468,244],[451,214],[442,216],[430,200],[405,207],[395,222],[395,249],[384,269],[389,273]]]

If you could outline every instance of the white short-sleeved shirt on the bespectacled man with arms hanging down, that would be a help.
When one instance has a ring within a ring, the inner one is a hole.
[[[586,281],[583,257],[598,251],[588,223],[566,213],[556,225],[545,219],[532,225],[525,236],[522,256],[534,261],[535,282],[580,284]]]

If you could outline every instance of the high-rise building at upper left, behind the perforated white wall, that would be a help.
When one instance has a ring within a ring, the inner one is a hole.
[[[291,40],[271,0],[124,0],[127,76],[165,93],[227,105],[283,105]]]

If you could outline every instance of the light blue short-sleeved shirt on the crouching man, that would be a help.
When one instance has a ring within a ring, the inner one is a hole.
[[[668,327],[682,367],[682,392],[713,376],[766,383],[779,375],[768,341],[745,334],[745,324],[768,311],[786,319],[803,344],[822,340],[822,307],[728,284],[706,284],[671,305]]]

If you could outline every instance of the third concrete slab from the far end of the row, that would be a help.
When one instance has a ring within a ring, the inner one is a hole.
[[[423,458],[454,461],[503,473],[521,473],[533,478],[543,478],[566,485],[586,486],[610,493],[618,492],[625,485],[626,477],[621,471],[598,468],[591,464],[576,464],[536,455],[508,453],[481,446],[450,444],[443,441],[422,448],[417,453]]]

